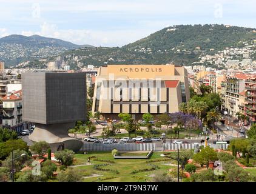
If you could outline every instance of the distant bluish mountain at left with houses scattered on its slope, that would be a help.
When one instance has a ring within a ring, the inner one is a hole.
[[[32,59],[60,55],[62,52],[90,45],[76,45],[61,39],[46,38],[39,35],[10,35],[0,38],[0,61],[5,65],[17,65]]]

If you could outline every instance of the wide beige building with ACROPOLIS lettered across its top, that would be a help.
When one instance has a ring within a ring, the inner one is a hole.
[[[175,65],[108,65],[99,67],[95,81],[92,112],[105,118],[130,113],[178,112],[189,101],[187,70]]]

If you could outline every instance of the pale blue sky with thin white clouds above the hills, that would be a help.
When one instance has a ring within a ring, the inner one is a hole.
[[[116,47],[179,24],[256,28],[254,0],[0,0],[0,38],[41,35]]]

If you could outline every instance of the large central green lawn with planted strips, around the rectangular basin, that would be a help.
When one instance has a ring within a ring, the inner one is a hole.
[[[162,152],[155,152],[151,156],[150,159],[157,159],[157,158],[162,158],[161,155]],[[131,153],[123,153],[124,155],[131,155]],[[134,155],[135,153],[132,153]],[[144,153],[136,153],[138,155],[146,155],[146,152]],[[157,170],[152,170],[149,172],[140,172],[136,174],[132,174],[133,170],[139,170],[139,169],[150,169],[149,163],[146,162],[147,159],[114,159],[113,156],[111,155],[110,152],[89,152],[86,155],[83,154],[76,154],[76,162],[74,165],[77,164],[85,164],[87,162],[87,158],[91,156],[96,156],[99,159],[104,159],[104,160],[110,160],[110,161],[115,161],[115,164],[110,164],[107,162],[99,162],[99,161],[93,161],[91,159],[90,162],[93,164],[109,164],[107,166],[104,166],[102,168],[104,169],[112,169],[112,170],[118,170],[119,174],[116,174],[114,172],[106,172],[106,171],[100,171],[100,170],[95,170],[93,169],[93,165],[90,166],[80,166],[76,167],[78,169],[81,169],[82,173],[86,175],[92,175],[92,174],[99,174],[103,175],[101,177],[95,177],[95,178],[86,178],[84,181],[86,182],[92,182],[92,181],[97,181],[98,178],[104,179],[108,177],[115,177],[112,179],[107,179],[104,180],[106,182],[120,182],[120,181],[135,181],[135,182],[141,182],[141,181],[150,181],[152,178],[150,178],[147,175],[151,175],[156,172],[167,172],[169,169],[173,168],[171,166],[166,166],[164,163],[169,163],[169,161],[160,161],[160,162],[152,162],[150,164],[155,164],[160,167],[160,169]]]

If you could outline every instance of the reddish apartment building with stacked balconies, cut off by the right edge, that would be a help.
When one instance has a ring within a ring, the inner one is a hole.
[[[244,113],[249,116],[250,122],[256,123],[256,76],[251,76],[245,81]]]

